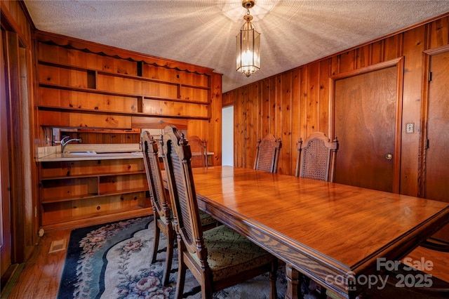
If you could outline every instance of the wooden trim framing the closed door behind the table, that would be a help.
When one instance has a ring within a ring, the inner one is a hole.
[[[350,72],[343,72],[329,77],[329,128],[330,135],[335,135],[335,81],[354,77],[359,74],[396,67],[396,112],[394,124],[394,161],[393,161],[393,193],[399,193],[401,181],[401,129],[402,129],[402,98],[403,98],[403,56],[392,60],[376,63]]]

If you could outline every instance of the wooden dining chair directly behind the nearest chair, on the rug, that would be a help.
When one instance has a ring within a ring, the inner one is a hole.
[[[164,286],[167,286],[170,279],[171,262],[173,260],[175,229],[171,222],[168,190],[163,185],[161,167],[159,166],[158,146],[156,140],[154,140],[148,131],[142,131],[142,150],[154,215],[154,240],[151,260],[152,263],[156,262],[156,255],[159,248],[159,234],[163,232],[167,237],[167,249],[166,267],[163,271],[162,283]]]

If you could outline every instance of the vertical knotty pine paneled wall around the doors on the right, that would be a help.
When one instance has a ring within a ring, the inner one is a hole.
[[[283,143],[279,173],[294,175],[297,140],[314,131],[328,136],[333,132],[329,123],[333,98],[330,78],[403,57],[400,192],[417,195],[423,52],[445,46],[448,41],[449,13],[446,13],[402,32],[224,93],[223,106],[234,105],[234,165],[252,168],[257,139],[272,133]],[[406,123],[417,125],[414,134],[405,133]]]

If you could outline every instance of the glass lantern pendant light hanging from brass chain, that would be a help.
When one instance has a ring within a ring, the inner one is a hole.
[[[255,31],[251,20],[250,8],[255,5],[254,0],[243,0],[241,5],[246,8],[246,15],[243,17],[245,24],[237,34],[236,63],[237,72],[242,72],[246,77],[260,69],[260,33]]]

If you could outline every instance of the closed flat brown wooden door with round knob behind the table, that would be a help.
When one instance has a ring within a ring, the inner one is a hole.
[[[397,66],[335,81],[335,182],[394,190]]]

